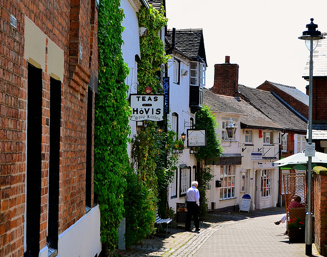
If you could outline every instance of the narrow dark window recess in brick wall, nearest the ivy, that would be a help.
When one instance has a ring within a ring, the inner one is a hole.
[[[93,107],[93,92],[88,88],[87,94],[87,122],[86,122],[86,189],[85,189],[85,204],[86,211],[91,208],[92,196],[92,108]]]

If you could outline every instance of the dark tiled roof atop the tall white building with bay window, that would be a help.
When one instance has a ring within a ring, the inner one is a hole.
[[[171,44],[172,30],[167,30],[166,38]],[[200,53],[201,50],[204,51],[202,29],[176,29],[175,44],[175,49],[189,58],[195,60],[200,55],[206,62],[205,53]]]

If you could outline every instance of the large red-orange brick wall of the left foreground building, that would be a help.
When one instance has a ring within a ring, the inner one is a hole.
[[[24,254],[27,119],[25,16],[46,36],[46,46],[52,40],[64,52],[59,185],[59,233],[62,233],[85,214],[87,84],[92,72],[98,75],[95,36],[98,13],[95,0],[5,1],[0,2],[0,9],[0,257],[3,257]],[[11,14],[17,18],[16,29],[10,25]],[[79,56],[80,44],[83,47],[82,59]],[[40,51],[46,53],[47,48]],[[40,249],[46,245],[48,219],[50,75],[47,61],[45,56],[42,71]]]

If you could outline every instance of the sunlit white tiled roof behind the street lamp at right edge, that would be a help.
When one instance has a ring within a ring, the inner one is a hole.
[[[327,76],[327,33],[321,33],[325,39],[319,40],[316,49],[313,51],[313,76]],[[305,46],[303,46],[305,47]],[[305,66],[303,77],[309,77],[310,52]]]

